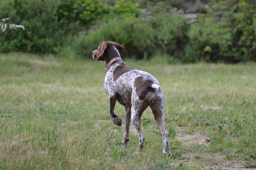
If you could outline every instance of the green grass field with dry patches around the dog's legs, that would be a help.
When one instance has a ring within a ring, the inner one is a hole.
[[[133,126],[122,145],[103,62],[13,53],[0,55],[0,169],[256,168],[256,63],[124,62],[160,82],[172,156],[149,108],[143,150]]]

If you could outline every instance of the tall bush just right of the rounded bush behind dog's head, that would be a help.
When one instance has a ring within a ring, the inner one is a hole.
[[[189,25],[185,18],[171,12],[171,2],[160,1],[148,4],[146,12],[143,12],[140,17],[155,30],[156,55],[168,55],[170,61],[182,60],[184,48],[188,42]]]

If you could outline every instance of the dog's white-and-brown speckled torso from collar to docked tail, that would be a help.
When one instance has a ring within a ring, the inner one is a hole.
[[[152,93],[162,93],[159,82],[145,71],[136,70],[122,62],[112,65],[105,77],[105,88],[113,88],[117,101],[123,106],[131,106],[132,97],[140,100],[154,100]],[[109,87],[110,86],[110,87]],[[132,93],[135,91],[135,93]],[[150,93],[150,95],[148,95]],[[132,95],[133,94],[133,95]]]

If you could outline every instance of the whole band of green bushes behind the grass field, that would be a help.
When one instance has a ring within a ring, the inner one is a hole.
[[[209,5],[197,11],[197,22],[172,11],[195,4]],[[170,63],[256,61],[253,0],[3,0],[0,18],[26,28],[1,33],[2,53],[91,58],[101,41],[116,41],[124,57],[137,59],[161,54]]]

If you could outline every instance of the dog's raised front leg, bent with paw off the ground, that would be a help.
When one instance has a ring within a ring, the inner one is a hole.
[[[112,121],[116,125],[121,126],[122,119],[120,119],[114,112],[114,109],[116,106],[116,92],[109,93],[108,100],[109,100],[109,116],[111,117]]]

